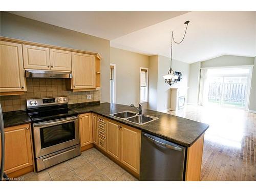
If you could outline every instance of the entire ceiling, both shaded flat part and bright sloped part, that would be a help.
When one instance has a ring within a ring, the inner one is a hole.
[[[239,11],[15,11],[16,15],[109,39],[111,47],[170,56],[170,32],[182,44],[173,58],[187,63],[220,55],[256,56],[256,12]]]

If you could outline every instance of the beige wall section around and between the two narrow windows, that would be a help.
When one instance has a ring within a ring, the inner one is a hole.
[[[137,105],[140,95],[140,67],[148,68],[148,56],[111,47],[110,61],[116,64],[116,103]],[[147,106],[147,103],[142,105]]]

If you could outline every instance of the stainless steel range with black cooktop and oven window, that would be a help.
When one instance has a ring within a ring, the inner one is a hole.
[[[80,155],[78,114],[67,97],[27,99],[37,171]]]

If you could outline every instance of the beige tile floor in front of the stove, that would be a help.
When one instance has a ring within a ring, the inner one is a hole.
[[[38,173],[28,173],[25,181],[138,181],[96,148]]]

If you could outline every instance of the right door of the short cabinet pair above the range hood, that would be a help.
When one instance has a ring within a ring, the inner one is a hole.
[[[51,70],[71,71],[71,52],[50,49]]]

